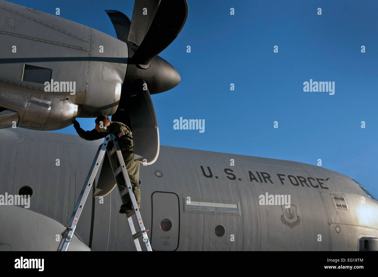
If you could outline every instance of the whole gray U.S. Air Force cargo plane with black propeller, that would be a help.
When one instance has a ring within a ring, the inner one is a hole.
[[[131,21],[106,12],[117,38],[0,1],[0,250],[56,251],[102,141],[44,131],[99,114],[131,126],[155,251],[378,250],[378,202],[350,177],[160,146],[150,94],[181,80],[158,54],[183,28],[187,2],[136,0]],[[107,174],[98,186],[113,187]],[[90,196],[68,250],[135,250],[119,191]]]

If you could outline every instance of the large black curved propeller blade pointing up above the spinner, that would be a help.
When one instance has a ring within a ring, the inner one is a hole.
[[[132,63],[147,65],[170,45],[183,28],[187,15],[188,4],[186,0],[161,0],[146,36],[132,57]],[[131,22],[132,27],[133,23],[134,14]]]

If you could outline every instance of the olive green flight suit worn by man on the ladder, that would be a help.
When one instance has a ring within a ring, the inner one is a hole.
[[[138,206],[140,206],[141,196],[139,191],[139,163],[135,162],[134,160],[132,132],[130,131],[129,127],[127,127],[122,122],[111,121],[110,125],[107,128],[109,132],[98,132],[96,129],[93,129],[92,131],[84,131],[83,129],[80,129],[79,131],[77,131],[77,134],[79,134],[79,136],[81,138],[84,138],[85,140],[98,140],[100,138],[106,137],[108,134],[113,134],[118,138],[118,145],[121,149],[127,173],[129,174],[129,179],[133,188],[135,200]],[[121,191],[127,187],[124,182],[122,173],[118,174],[116,179]],[[129,194],[125,194],[124,197],[126,199],[126,203],[131,204]]]

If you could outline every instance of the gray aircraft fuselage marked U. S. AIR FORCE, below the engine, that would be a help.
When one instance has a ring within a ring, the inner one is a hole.
[[[28,209],[0,206],[3,247],[57,249],[100,143],[0,130],[0,194],[33,189]],[[361,237],[371,245],[378,237],[378,202],[350,177],[319,166],[161,146],[139,179],[141,215],[156,251],[357,251]],[[266,194],[290,195],[290,208],[262,201]],[[103,199],[90,193],[76,228],[80,241],[68,249],[134,250],[120,205],[118,189]]]

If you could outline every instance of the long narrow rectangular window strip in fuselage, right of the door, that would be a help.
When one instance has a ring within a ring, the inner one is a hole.
[[[235,201],[204,201],[184,199],[185,212],[203,212],[220,214],[240,214],[238,202]]]

